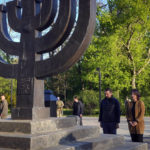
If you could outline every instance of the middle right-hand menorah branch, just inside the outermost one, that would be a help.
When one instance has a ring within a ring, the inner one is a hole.
[[[58,19],[52,30],[45,36],[35,39],[36,52],[53,49],[65,34],[71,17],[71,0],[60,1]]]

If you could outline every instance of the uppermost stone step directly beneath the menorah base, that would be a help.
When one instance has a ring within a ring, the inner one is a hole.
[[[77,126],[76,117],[41,120],[0,120],[0,133],[42,134]]]

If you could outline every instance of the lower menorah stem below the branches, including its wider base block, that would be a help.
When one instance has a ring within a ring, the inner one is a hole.
[[[44,81],[36,78],[25,78],[19,79],[17,84],[17,103],[16,108],[12,109],[12,119],[35,120],[49,118],[50,109],[44,107]]]

